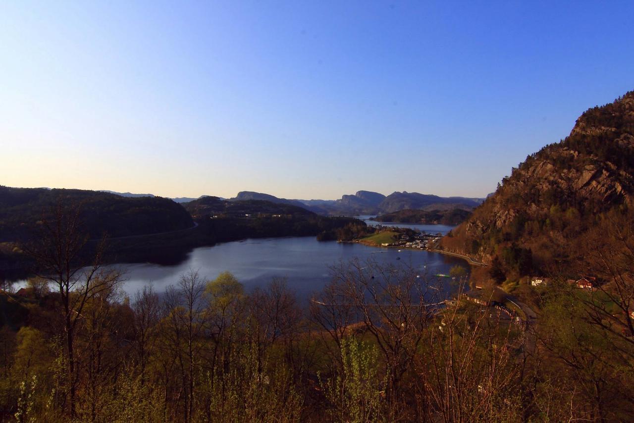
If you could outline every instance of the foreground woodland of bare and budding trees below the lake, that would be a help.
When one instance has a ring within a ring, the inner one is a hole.
[[[634,326],[613,308],[634,292],[634,237],[618,222],[605,257],[616,282],[553,280],[534,322],[492,291],[475,302],[463,280],[443,303],[434,277],[372,261],[333,267],[308,303],[285,280],[247,292],[195,270],[129,297],[101,249],[81,254],[77,214],[52,219],[24,247],[39,277],[0,294],[3,421],[634,418]]]

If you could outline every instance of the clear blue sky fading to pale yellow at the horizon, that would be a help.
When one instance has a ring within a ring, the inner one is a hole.
[[[0,184],[464,195],[634,89],[631,1],[0,4]]]

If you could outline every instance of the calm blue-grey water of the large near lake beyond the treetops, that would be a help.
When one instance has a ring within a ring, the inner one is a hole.
[[[399,257],[399,259],[397,259]],[[309,299],[330,281],[330,266],[351,259],[375,259],[378,263],[411,264],[421,274],[448,273],[451,266],[469,265],[460,258],[421,250],[387,249],[362,244],[319,242],[314,237],[263,238],[202,247],[190,252],[176,266],[120,264],[126,271],[124,289],[131,296],[152,282],[157,292],[178,282],[180,275],[197,270],[205,279],[230,271],[247,290],[266,285],[273,277],[286,277],[299,299]],[[426,267],[425,267],[426,266]],[[446,279],[446,278],[445,278]]]

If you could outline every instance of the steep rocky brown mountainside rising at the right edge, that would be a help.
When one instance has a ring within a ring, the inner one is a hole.
[[[529,155],[442,245],[498,256],[519,274],[565,267],[609,240],[600,231],[610,222],[631,228],[632,209],[634,92],[590,108],[565,140]]]

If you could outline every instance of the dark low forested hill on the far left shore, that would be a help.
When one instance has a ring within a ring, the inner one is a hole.
[[[0,186],[0,242],[29,238],[58,201],[81,205],[89,237],[127,237],[193,226],[190,214],[169,198],[122,197],[107,192]]]

